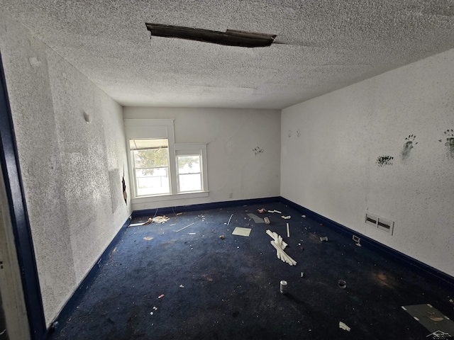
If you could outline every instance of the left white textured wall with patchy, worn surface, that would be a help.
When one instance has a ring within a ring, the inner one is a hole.
[[[6,86],[49,324],[130,214],[121,198],[126,164],[122,108],[1,12],[0,23]],[[92,123],[85,122],[83,111]]]

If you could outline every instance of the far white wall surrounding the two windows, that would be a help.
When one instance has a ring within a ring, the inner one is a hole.
[[[279,196],[280,111],[126,107],[123,116],[174,118],[176,143],[207,144],[209,197],[133,204],[134,210]],[[255,147],[263,152],[255,155]]]

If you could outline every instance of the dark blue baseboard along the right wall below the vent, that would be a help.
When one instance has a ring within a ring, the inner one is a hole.
[[[301,205],[292,202],[291,200],[287,200],[287,198],[281,197],[281,202],[301,212],[307,217],[311,217],[314,220],[322,222],[323,225],[333,229],[339,234],[343,234],[348,237],[352,237],[353,235],[360,237],[362,246],[366,246],[376,251],[377,253],[387,256],[389,259],[392,259],[393,261],[397,261],[399,263],[404,264],[405,266],[411,267],[417,273],[420,273],[422,276],[425,276],[426,278],[433,280],[439,285],[443,285],[445,288],[454,289],[453,276],[449,276],[448,274],[443,273],[443,271],[438,271],[438,269],[428,266],[426,263],[418,261],[408,255],[401,253],[400,251],[390,248],[389,246],[385,246],[384,244],[375,241],[375,239],[371,239],[370,237],[360,234],[359,232],[355,232],[353,229],[345,227],[344,225],[341,225],[338,222],[330,220],[329,218],[324,217],[323,215],[319,215],[318,213],[312,210],[304,208]]]

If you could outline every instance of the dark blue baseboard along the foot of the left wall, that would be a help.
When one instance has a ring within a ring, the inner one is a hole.
[[[90,269],[90,271],[85,276],[84,280],[82,280],[82,282],[79,284],[79,287],[77,287],[77,289],[74,290],[74,293],[72,293],[70,299],[67,300],[66,305],[62,308],[57,317],[55,317],[54,321],[47,329],[43,339],[51,339],[52,334],[58,330],[59,325],[65,323],[67,318],[70,317],[70,314],[79,304],[80,298],[84,294],[85,290],[87,290],[89,286],[92,285],[93,280],[94,278],[96,278],[99,269],[104,265],[106,259],[109,258],[111,251],[114,250],[115,246],[118,244],[121,237],[123,236],[123,233],[126,232],[126,229],[128,229],[128,225],[130,224],[130,222],[131,220],[130,218],[128,218],[128,220],[126,220],[126,222],[121,226],[120,230],[118,230],[115,237],[111,240],[106,249],[104,249],[101,256],[99,256],[99,259],[97,259],[97,261],[94,263],[92,269]]]

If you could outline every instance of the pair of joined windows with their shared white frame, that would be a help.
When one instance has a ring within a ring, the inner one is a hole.
[[[175,144],[172,119],[125,119],[133,203],[208,196],[205,144]]]

